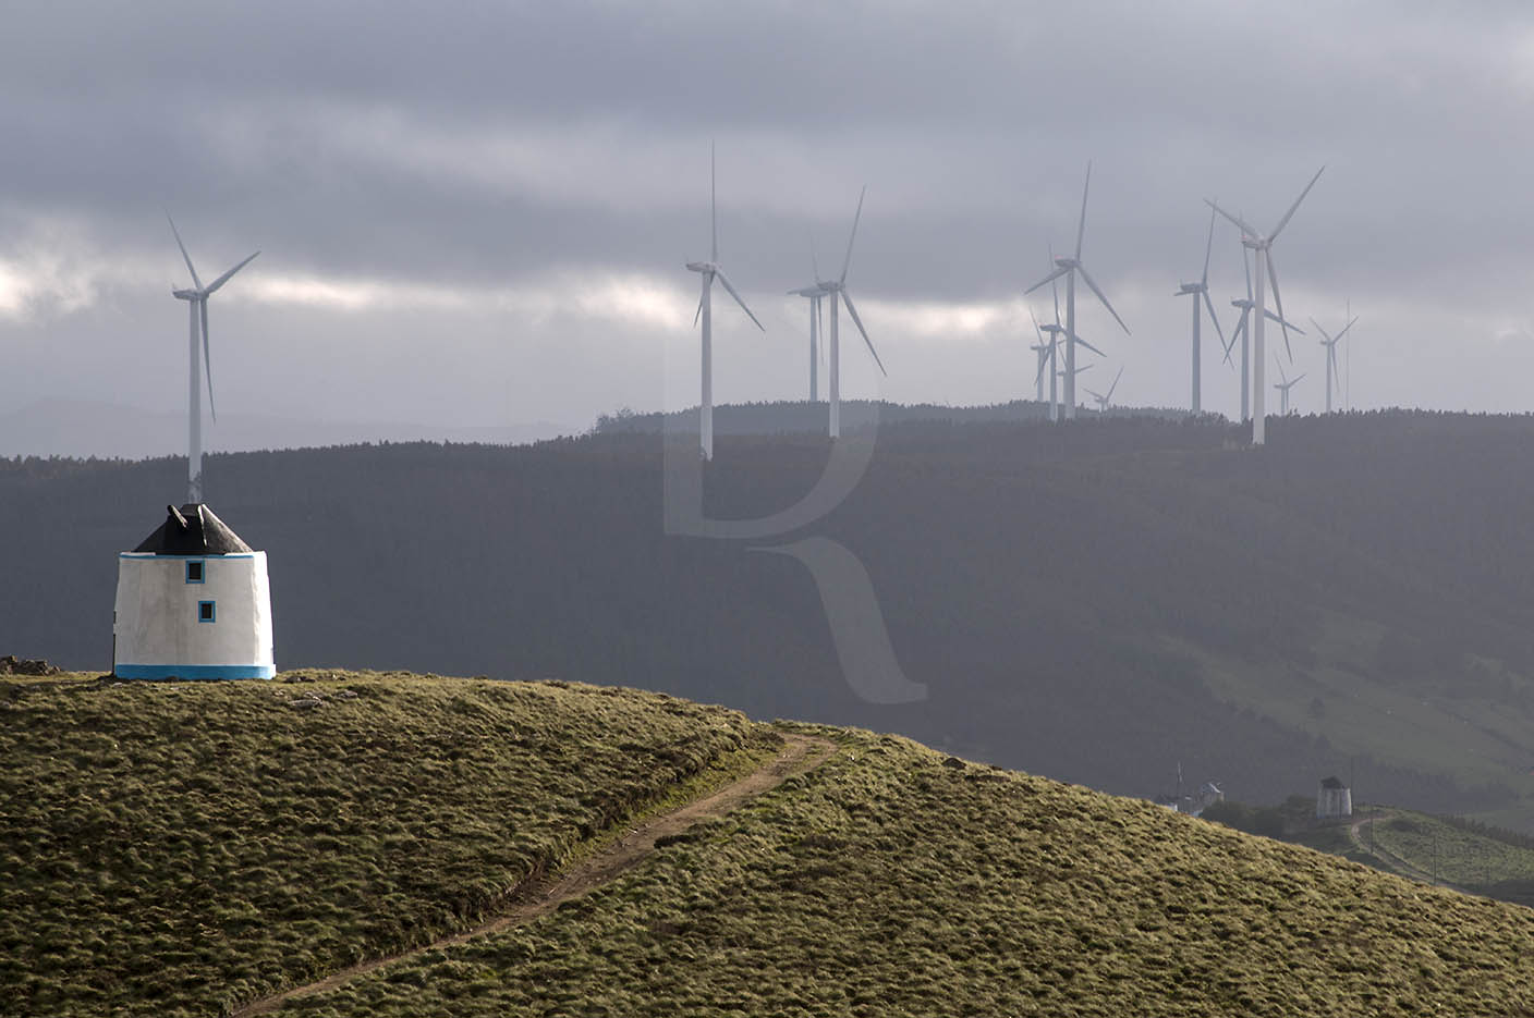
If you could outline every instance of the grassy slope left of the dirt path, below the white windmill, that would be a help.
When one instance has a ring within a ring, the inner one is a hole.
[[[0,681],[0,1013],[212,1015],[426,943],[775,741],[563,684]]]

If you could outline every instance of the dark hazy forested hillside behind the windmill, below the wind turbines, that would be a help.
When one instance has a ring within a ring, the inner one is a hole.
[[[1534,420],[885,423],[830,515],[667,537],[661,438],[390,445],[209,460],[272,558],[281,667],[643,685],[900,731],[1109,791],[1216,779],[1247,802],[1358,796],[1534,826]],[[798,500],[811,434],[724,437],[716,517]],[[0,461],[0,652],[103,668],[117,552],[184,461]],[[922,702],[842,678],[810,572],[867,567]]]

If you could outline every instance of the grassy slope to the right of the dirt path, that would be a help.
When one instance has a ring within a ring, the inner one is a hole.
[[[1531,911],[825,731],[830,762],[604,889],[282,1013],[1534,1012]]]

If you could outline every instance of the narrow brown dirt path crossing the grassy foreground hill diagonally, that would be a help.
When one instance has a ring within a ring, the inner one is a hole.
[[[782,733],[782,737],[784,747],[778,756],[767,760],[746,777],[733,780],[724,788],[719,788],[703,799],[695,799],[683,806],[678,806],[670,813],[663,813],[641,822],[638,826],[624,832],[623,837],[612,842],[595,855],[583,860],[568,872],[557,874],[554,877],[534,878],[511,895],[506,911],[495,918],[462,934],[453,934],[451,937],[443,937],[430,944],[411,947],[410,951],[403,951],[400,954],[362,961],[342,969],[334,975],[327,975],[324,980],[316,983],[295,986],[293,989],[282,990],[281,993],[264,997],[262,1000],[235,1009],[230,1018],[265,1015],[290,1000],[308,997],[310,993],[321,993],[324,990],[333,990],[337,986],[350,983],[359,975],[393,964],[394,961],[414,958],[426,951],[462,944],[474,937],[494,934],[509,926],[520,926],[522,923],[535,920],[540,915],[546,915],[565,901],[578,898],[588,891],[600,888],[635,866],[655,851],[655,842],[658,839],[667,834],[680,834],[701,820],[723,817],[746,800],[755,799],[765,791],[772,791],[793,774],[804,774],[805,771],[815,770],[836,750],[836,745],[830,741],[816,739],[815,736]]]

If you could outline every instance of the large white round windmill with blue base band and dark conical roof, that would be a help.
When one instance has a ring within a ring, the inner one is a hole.
[[[118,555],[112,673],[121,679],[270,679],[267,553],[201,503]]]

